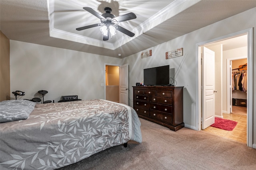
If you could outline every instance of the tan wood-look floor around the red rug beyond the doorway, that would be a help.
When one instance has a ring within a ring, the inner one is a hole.
[[[233,121],[237,121],[237,125],[233,131],[226,131],[223,129],[218,129],[215,127],[207,127],[204,131],[209,133],[213,133],[215,135],[225,137],[228,139],[232,139],[234,141],[238,141],[246,144],[247,138],[247,115],[246,115],[246,107],[233,106],[232,113],[227,114],[223,113],[223,119],[229,119]]]

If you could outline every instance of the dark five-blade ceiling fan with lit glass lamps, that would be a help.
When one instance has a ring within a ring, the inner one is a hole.
[[[116,23],[118,22],[123,22],[123,21],[128,21],[128,20],[132,20],[136,18],[136,15],[133,12],[130,12],[128,14],[124,14],[122,16],[118,16],[115,17],[113,14],[110,14],[112,12],[111,8],[104,8],[105,13],[100,15],[98,12],[96,12],[95,10],[93,10],[92,8],[89,7],[84,7],[84,10],[90,12],[92,15],[100,18],[101,23],[96,23],[96,24],[92,24],[92,25],[87,25],[84,27],[79,27],[76,28],[76,30],[81,31],[84,29],[88,29],[88,28],[92,28],[92,27],[98,27],[103,25],[100,28],[100,31],[103,34],[103,40],[107,41],[109,38],[109,34],[111,34],[111,37],[116,34],[116,30],[130,36],[133,37],[135,34],[132,33],[131,31],[121,27],[120,25],[117,25]]]

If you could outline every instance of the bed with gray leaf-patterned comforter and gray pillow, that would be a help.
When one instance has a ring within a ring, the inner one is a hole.
[[[138,115],[123,104],[100,99],[48,104],[9,100],[0,104],[4,122],[0,123],[1,170],[52,170],[129,140],[142,142]],[[17,111],[18,118],[7,119],[4,106]],[[31,113],[20,118],[27,106]]]

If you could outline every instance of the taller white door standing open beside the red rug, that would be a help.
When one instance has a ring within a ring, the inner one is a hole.
[[[202,54],[202,129],[205,129],[215,121],[215,53],[204,47]]]

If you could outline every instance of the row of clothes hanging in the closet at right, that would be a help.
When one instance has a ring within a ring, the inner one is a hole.
[[[247,72],[232,72],[232,91],[247,92]]]

